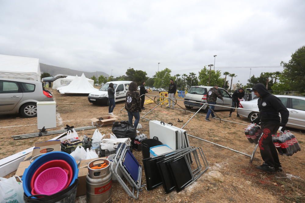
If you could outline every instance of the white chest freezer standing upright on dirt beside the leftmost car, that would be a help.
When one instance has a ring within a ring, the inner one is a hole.
[[[56,102],[37,102],[37,129],[56,128]]]

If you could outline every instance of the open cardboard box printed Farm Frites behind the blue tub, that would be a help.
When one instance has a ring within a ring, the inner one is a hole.
[[[60,140],[51,140],[46,142],[35,143],[33,149],[32,157],[39,154],[45,154],[47,152],[60,151]]]

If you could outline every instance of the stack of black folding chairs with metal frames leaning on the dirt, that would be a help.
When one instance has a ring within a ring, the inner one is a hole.
[[[183,190],[209,168],[203,150],[193,146],[143,159],[143,166],[146,189],[152,190],[163,184],[166,193]]]

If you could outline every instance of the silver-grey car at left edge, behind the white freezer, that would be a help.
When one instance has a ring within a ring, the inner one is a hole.
[[[53,101],[52,94],[42,82],[22,79],[0,78],[0,114],[37,116],[37,102]]]

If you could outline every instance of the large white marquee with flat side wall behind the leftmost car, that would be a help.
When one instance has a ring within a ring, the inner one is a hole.
[[[0,54],[0,78],[16,78],[40,81],[38,58]]]

